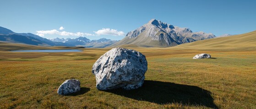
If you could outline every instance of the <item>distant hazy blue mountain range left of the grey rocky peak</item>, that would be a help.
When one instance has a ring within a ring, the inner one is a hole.
[[[86,37],[78,37],[76,39],[56,38],[49,40],[32,33],[15,33],[4,27],[0,27],[0,41],[39,46],[84,46],[94,48],[103,48],[117,42],[116,40],[109,40],[105,38],[89,40]]]

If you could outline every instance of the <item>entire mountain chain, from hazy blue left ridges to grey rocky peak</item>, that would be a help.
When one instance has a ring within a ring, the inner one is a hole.
[[[196,40],[212,39],[216,36],[212,33],[192,32],[189,28],[163,23],[152,19],[147,24],[127,33],[120,41],[99,39],[89,40],[86,37],[46,39],[31,33],[15,33],[4,27],[0,27],[0,41],[11,43],[23,43],[40,46],[83,46],[93,48],[118,47],[122,45],[135,45],[139,47],[170,47]]]

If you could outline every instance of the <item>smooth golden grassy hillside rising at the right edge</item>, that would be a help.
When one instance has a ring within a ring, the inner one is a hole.
[[[256,31],[229,37],[218,37],[208,40],[199,40],[192,43],[182,44],[176,49],[196,50],[256,50]]]

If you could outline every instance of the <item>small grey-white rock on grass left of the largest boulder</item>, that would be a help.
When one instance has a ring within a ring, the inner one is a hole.
[[[58,94],[65,95],[78,92],[80,90],[80,81],[76,79],[68,79],[62,83],[58,89]]]

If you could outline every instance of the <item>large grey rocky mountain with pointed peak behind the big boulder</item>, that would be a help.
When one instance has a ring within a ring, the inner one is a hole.
[[[192,32],[188,28],[174,27],[173,25],[152,19],[147,24],[127,33],[123,40],[110,46],[169,47],[215,37],[211,33]]]

